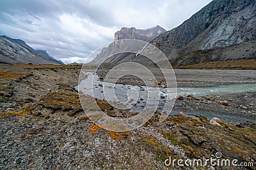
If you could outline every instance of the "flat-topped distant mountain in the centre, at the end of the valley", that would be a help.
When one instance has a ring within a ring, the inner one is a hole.
[[[157,25],[156,27],[152,27],[150,29],[136,29],[134,27],[123,27],[120,31],[115,32],[115,41],[120,39],[139,39],[148,42],[156,38],[157,36],[163,34],[164,32],[166,32],[166,30],[160,27],[159,25]],[[102,51],[97,55],[97,57],[88,64],[98,66],[102,61],[106,60],[106,58],[108,58],[121,48],[124,48],[124,46],[121,47],[120,45],[118,45],[118,43],[111,43],[108,47],[103,48]],[[119,57],[113,56],[114,59],[108,59],[106,60],[106,62],[121,62],[124,61],[122,59],[124,59],[127,55],[129,54],[120,54]],[[126,59],[129,60],[130,58],[128,59],[127,57]]]

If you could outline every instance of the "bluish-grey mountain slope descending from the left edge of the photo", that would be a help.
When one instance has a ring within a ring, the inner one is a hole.
[[[9,64],[63,64],[47,54],[36,52],[21,39],[0,36],[0,63]]]

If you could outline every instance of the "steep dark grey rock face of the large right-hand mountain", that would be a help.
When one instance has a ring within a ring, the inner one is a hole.
[[[151,43],[173,61],[189,52],[255,40],[255,9],[254,0],[215,0]],[[220,60],[225,60],[225,56],[220,56]]]

